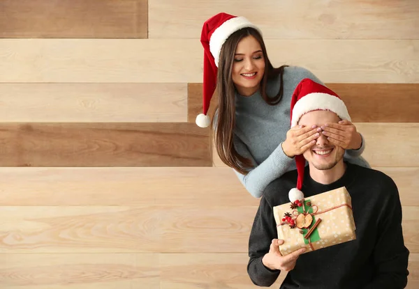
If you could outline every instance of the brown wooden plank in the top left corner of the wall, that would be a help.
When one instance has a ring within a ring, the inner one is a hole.
[[[147,0],[0,1],[1,38],[147,38]]]

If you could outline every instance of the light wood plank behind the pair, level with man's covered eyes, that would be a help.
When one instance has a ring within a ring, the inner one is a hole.
[[[419,164],[419,123],[354,123],[367,143],[362,157],[370,166],[416,167]],[[213,166],[226,166],[212,146]]]

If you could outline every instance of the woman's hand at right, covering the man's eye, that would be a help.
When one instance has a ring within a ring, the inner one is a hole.
[[[348,120],[341,120],[338,123],[325,123],[321,127],[322,134],[328,136],[328,141],[335,146],[345,150],[358,150],[362,145],[362,137],[356,131],[355,125]]]

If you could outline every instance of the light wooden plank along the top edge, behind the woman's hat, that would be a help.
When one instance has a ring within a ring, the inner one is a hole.
[[[198,38],[203,23],[226,12],[247,17],[263,36],[282,39],[418,39],[416,1],[149,0],[149,38]],[[196,13],[199,11],[199,13]]]

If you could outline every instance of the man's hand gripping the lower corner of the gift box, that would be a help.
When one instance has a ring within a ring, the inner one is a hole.
[[[279,252],[279,245],[284,244],[284,240],[274,239],[270,244],[269,253],[262,258],[262,263],[270,270],[291,271],[295,267],[298,257],[306,251],[305,248],[298,249],[287,256],[282,256]]]

